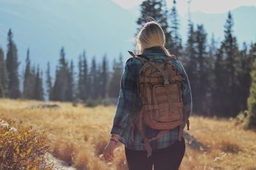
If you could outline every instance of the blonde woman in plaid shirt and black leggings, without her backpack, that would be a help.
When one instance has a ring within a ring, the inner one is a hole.
[[[164,47],[165,37],[163,29],[156,22],[147,22],[136,37],[136,50],[148,59],[166,59],[170,53]],[[192,99],[189,80],[184,67],[180,61],[173,60],[179,74],[185,81],[181,83],[182,101],[187,116],[191,114]],[[141,100],[138,96],[138,78],[142,63],[140,60],[131,58],[125,64],[124,73],[120,82],[121,89],[116,108],[116,114],[111,129],[111,139],[104,149],[104,159],[113,160],[113,150],[118,141],[125,145],[125,156],[130,170],[164,170],[179,169],[180,162],[184,157],[184,138],[178,140],[179,127],[168,131],[162,138],[150,142],[152,155],[147,157],[145,146],[141,143],[141,134],[134,126],[141,110]],[[184,127],[182,127],[184,128]],[[143,124],[145,136],[152,137],[159,133],[159,130],[152,129]]]

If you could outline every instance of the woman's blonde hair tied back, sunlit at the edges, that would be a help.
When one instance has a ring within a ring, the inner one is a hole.
[[[161,26],[155,22],[147,22],[139,31],[136,36],[136,53],[143,53],[145,48],[150,48],[153,46],[159,46],[164,50],[167,56],[170,56],[168,50],[164,47],[165,36],[164,31]]]

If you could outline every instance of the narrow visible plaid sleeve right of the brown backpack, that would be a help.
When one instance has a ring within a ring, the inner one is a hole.
[[[182,67],[182,76],[185,78],[185,81],[181,83],[181,90],[182,90],[182,101],[184,104],[184,109],[187,113],[187,116],[190,117],[192,112],[192,96],[191,96],[191,87],[188,79],[188,75],[182,66],[181,62],[179,61],[180,66]]]

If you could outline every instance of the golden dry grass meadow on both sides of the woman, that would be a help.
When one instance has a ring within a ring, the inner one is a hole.
[[[86,108],[82,104],[54,103],[60,108],[29,108],[39,101],[0,99],[0,119],[33,125],[47,131],[51,152],[77,169],[127,169],[124,146],[106,163],[102,151],[109,139],[115,106]],[[256,169],[256,133],[244,131],[235,120],[191,117],[189,134],[207,150],[186,148],[180,169]]]

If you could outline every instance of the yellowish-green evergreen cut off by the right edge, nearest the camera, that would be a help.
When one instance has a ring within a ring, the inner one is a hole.
[[[247,100],[249,110],[247,128],[256,130],[256,60],[253,62],[251,77],[250,96]]]

